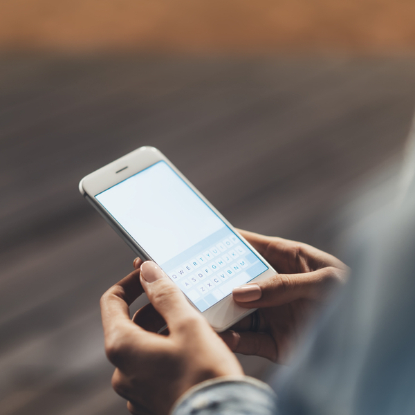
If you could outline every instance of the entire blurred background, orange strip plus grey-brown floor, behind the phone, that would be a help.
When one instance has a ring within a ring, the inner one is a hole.
[[[0,413],[128,413],[98,301],[134,255],[77,183],[141,145],[235,226],[342,257],[402,161],[414,21],[409,0],[1,1]]]

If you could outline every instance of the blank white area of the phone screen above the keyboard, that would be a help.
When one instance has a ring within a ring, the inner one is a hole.
[[[164,161],[95,198],[158,264],[225,226]]]

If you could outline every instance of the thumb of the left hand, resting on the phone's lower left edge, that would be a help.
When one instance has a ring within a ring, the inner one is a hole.
[[[167,322],[170,332],[174,331],[174,327],[178,324],[188,321],[190,317],[201,317],[196,308],[187,301],[180,288],[157,264],[145,261],[140,270],[142,288],[156,311]]]

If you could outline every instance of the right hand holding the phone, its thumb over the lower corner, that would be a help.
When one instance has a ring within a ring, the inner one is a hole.
[[[306,323],[327,302],[333,288],[344,282],[348,268],[339,259],[305,243],[239,232],[279,274],[234,289],[234,302],[258,308],[257,331],[251,331],[253,317],[248,315],[221,337],[234,352],[284,363]]]

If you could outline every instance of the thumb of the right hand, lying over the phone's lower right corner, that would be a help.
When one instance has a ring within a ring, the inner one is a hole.
[[[302,274],[277,274],[232,291],[234,302],[242,307],[281,306],[296,299],[323,300],[333,286],[344,279],[344,270],[332,266]]]

